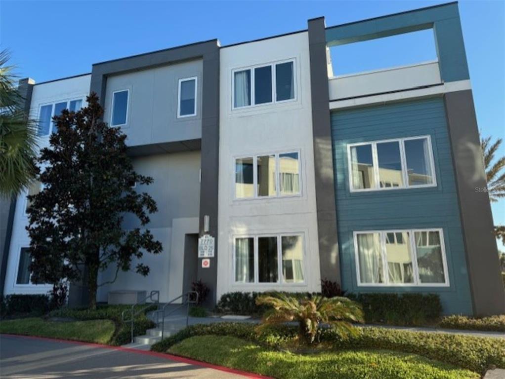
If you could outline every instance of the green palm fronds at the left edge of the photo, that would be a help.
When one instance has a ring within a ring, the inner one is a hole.
[[[14,66],[0,51],[0,196],[17,195],[35,176],[37,128],[22,107]]]

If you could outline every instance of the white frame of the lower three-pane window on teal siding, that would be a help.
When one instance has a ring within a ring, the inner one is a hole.
[[[390,284],[389,276],[387,272],[387,258],[386,258],[386,233],[409,233],[409,244],[412,252],[412,271],[414,276],[414,283],[393,283]],[[440,250],[442,254],[442,265],[444,272],[444,283],[420,283],[419,282],[419,268],[417,263],[417,250],[415,243],[415,233],[416,232],[438,232],[440,236]],[[360,260],[358,257],[358,235],[359,234],[372,234],[378,233],[380,235],[380,251],[382,256],[382,269],[383,277],[385,283],[362,283],[360,276]],[[354,256],[355,256],[355,267],[356,267],[356,283],[358,287],[449,287],[449,275],[447,269],[447,257],[445,254],[445,242],[443,229],[441,228],[428,228],[428,229],[387,229],[387,230],[360,230],[353,232],[353,242],[354,242]]]

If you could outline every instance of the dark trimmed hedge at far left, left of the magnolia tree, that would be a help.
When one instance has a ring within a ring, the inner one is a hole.
[[[47,295],[7,295],[2,298],[2,317],[42,315],[49,310]]]

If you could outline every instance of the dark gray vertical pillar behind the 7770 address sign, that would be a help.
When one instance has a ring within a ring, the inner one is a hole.
[[[200,182],[200,235],[204,234],[204,216],[210,218],[209,234],[218,246],[218,178],[219,178],[219,47],[204,55],[203,108],[201,117],[201,182]],[[202,268],[198,259],[198,279],[211,290],[206,305],[216,304],[217,251],[211,266]]]

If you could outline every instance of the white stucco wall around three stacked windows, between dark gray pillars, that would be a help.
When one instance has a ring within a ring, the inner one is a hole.
[[[234,109],[235,71],[289,60],[294,62],[294,99]],[[307,32],[221,48],[218,299],[233,291],[321,289],[310,84]],[[236,198],[235,158],[291,151],[299,153],[299,195]],[[277,283],[236,282],[234,239],[266,235],[302,236],[303,282],[283,283],[281,273]]]

